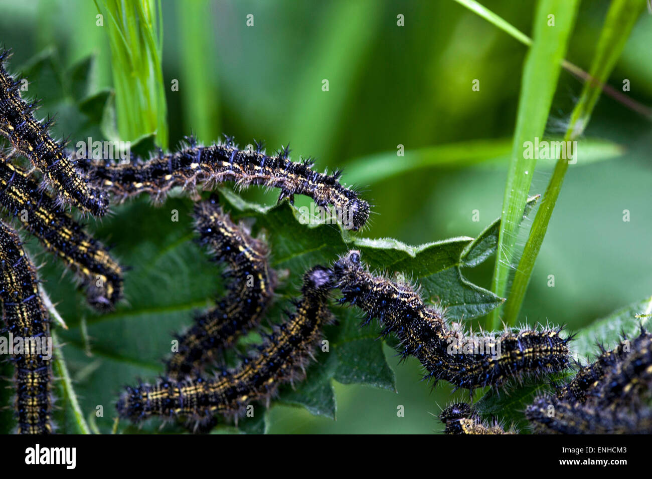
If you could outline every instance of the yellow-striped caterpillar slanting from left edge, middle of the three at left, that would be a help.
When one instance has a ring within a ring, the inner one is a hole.
[[[111,310],[123,297],[123,269],[25,171],[0,158],[0,205],[19,217],[46,250],[63,259],[85,287],[91,306]]]

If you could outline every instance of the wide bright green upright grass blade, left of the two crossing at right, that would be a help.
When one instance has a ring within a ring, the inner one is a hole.
[[[535,12],[534,41],[523,70],[514,143],[503,197],[499,254],[492,280],[492,291],[497,295],[504,295],[507,291],[518,218],[526,205],[537,162],[534,157],[527,158],[524,154],[524,143],[543,136],[578,5],[578,0],[540,0]],[[554,15],[554,27],[548,26],[549,15]],[[499,311],[494,310],[490,318],[493,328],[497,328]]]

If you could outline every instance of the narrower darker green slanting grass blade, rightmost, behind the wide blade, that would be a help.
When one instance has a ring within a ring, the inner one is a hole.
[[[571,123],[564,136],[565,141],[573,141],[584,132],[593,107],[595,107],[600,96],[602,85],[604,85],[614,69],[615,62],[625,47],[625,42],[629,38],[632,27],[634,27],[636,19],[644,8],[644,0],[614,0],[612,2],[591,64],[589,75],[593,81],[587,81],[584,84],[580,100],[572,111]],[[503,319],[508,325],[516,323],[568,167],[569,163],[565,158],[557,160],[555,170],[541,202],[541,207],[535,216],[523,255],[514,274],[511,293],[503,310]]]

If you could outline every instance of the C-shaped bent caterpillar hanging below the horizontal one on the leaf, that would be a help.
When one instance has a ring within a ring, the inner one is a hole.
[[[204,366],[215,362],[218,351],[259,325],[274,295],[276,275],[267,263],[267,247],[242,225],[233,224],[217,201],[212,195],[195,205],[195,229],[214,259],[229,264],[224,276],[234,281],[228,285],[228,295],[198,315],[190,330],[179,336],[179,349],[167,363],[170,379],[199,375]]]

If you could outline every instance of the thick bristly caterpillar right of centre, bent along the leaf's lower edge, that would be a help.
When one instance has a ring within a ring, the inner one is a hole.
[[[366,313],[364,324],[376,318],[384,325],[381,334],[394,332],[405,358],[415,356],[428,371],[425,379],[443,379],[456,388],[499,386],[522,375],[561,371],[570,361],[571,338],[561,328],[503,332],[492,341],[490,351],[452,347],[461,331],[447,327],[442,312],[424,304],[408,283],[374,276],[361,263],[359,251],[349,251],[333,265],[333,285],[342,291],[340,303],[358,306]]]

